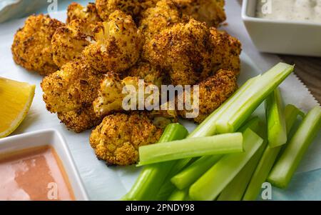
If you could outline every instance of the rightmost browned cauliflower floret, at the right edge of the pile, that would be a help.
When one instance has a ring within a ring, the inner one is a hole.
[[[213,71],[227,69],[240,74],[240,54],[242,45],[238,39],[230,36],[225,31],[210,29],[210,39],[213,49]]]

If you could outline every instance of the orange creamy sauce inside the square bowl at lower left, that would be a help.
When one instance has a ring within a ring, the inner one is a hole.
[[[74,200],[56,151],[41,146],[0,154],[0,200]]]

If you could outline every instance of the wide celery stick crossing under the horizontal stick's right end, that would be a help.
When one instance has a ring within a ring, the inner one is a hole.
[[[263,144],[263,139],[250,129],[245,131],[243,138],[245,152],[223,156],[218,163],[190,186],[191,199],[198,201],[215,199]]]

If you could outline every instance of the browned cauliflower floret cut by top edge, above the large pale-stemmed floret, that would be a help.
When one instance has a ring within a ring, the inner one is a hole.
[[[98,14],[104,21],[108,19],[114,11],[120,10],[139,19],[141,12],[151,6],[155,6],[158,0],[96,0]]]

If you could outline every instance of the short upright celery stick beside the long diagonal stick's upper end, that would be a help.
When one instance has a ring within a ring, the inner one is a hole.
[[[287,128],[280,89],[267,96],[265,101],[267,140],[271,148],[287,143]]]

